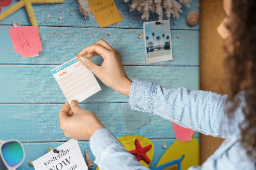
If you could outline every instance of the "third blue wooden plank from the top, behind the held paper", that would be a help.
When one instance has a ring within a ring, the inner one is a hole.
[[[17,102],[65,102],[60,87],[50,72],[56,66],[0,66],[0,103]],[[132,79],[155,82],[167,88],[186,87],[199,89],[198,66],[125,66],[125,72]],[[127,102],[128,97],[120,95],[104,85],[102,90],[85,102]]]

